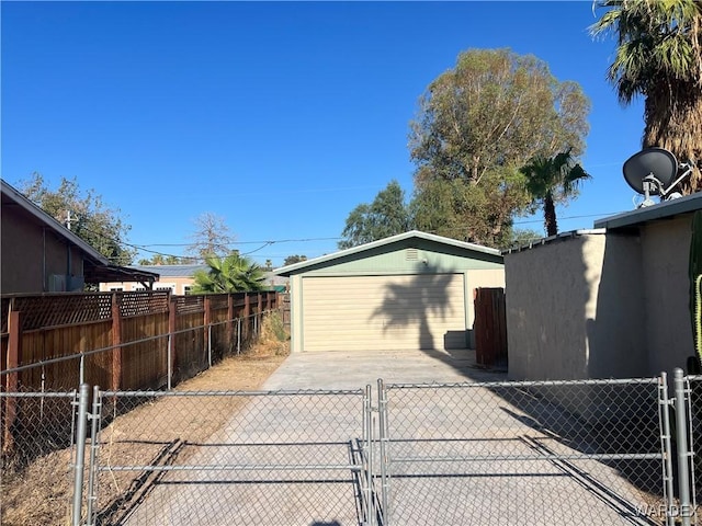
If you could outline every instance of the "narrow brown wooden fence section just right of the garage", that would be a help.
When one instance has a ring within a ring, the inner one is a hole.
[[[475,359],[485,367],[507,367],[507,319],[503,288],[476,288]]]

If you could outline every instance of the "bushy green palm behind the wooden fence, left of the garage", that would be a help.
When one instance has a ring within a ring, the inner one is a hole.
[[[231,253],[205,258],[208,271],[196,271],[194,294],[244,293],[263,289],[263,270],[250,259]]]

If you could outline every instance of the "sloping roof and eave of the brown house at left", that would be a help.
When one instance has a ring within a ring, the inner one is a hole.
[[[39,224],[50,228],[57,236],[64,238],[80,249],[87,258],[83,267],[86,283],[100,282],[154,282],[158,281],[158,274],[150,272],[139,272],[134,268],[113,265],[104,255],[93,249],[83,239],[68,230],[42,208],[27,199],[19,190],[10,183],[0,179],[0,193],[2,195],[2,206],[19,206],[24,211],[34,217]]]

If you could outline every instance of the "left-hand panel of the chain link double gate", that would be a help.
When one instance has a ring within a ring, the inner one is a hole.
[[[165,398],[178,410],[161,413]],[[89,526],[376,524],[370,387],[95,390],[93,414]]]

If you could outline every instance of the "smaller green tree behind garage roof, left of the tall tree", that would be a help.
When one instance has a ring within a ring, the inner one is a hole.
[[[370,243],[411,229],[409,206],[405,203],[405,191],[395,180],[377,193],[373,203],[356,206],[341,232],[340,249],[350,249]]]

